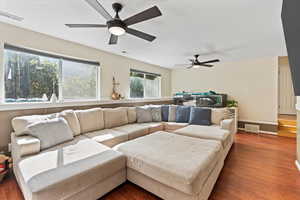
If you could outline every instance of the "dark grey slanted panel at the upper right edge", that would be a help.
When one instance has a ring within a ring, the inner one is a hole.
[[[283,0],[281,18],[295,95],[300,96],[300,1]]]

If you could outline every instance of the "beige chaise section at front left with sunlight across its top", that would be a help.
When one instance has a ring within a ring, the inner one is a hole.
[[[82,139],[25,158],[17,164],[17,171],[33,196],[68,199],[124,170],[125,162],[121,153],[93,140]]]

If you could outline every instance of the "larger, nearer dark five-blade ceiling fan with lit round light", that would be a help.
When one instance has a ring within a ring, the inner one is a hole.
[[[149,8],[132,17],[122,20],[119,17],[119,12],[123,8],[122,4],[112,4],[112,7],[116,12],[115,17],[113,18],[97,0],[85,1],[107,20],[106,24],[65,24],[66,26],[70,28],[108,28],[109,32],[111,33],[109,39],[110,45],[117,44],[118,36],[121,36],[125,33],[129,33],[149,42],[155,40],[155,36],[138,31],[136,29],[129,28],[129,26],[161,16],[162,13],[157,6]]]

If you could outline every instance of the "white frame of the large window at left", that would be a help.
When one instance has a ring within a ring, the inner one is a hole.
[[[1,65],[1,77],[0,77],[0,104],[4,104],[4,105],[21,105],[21,104],[50,104],[50,101],[47,102],[13,102],[13,103],[9,103],[6,102],[6,91],[5,91],[5,51],[6,50],[10,50],[10,51],[15,51],[18,53],[27,53],[27,54],[33,54],[36,56],[42,56],[42,57],[48,57],[48,58],[54,58],[57,59],[59,61],[59,70],[58,70],[58,102],[57,103],[71,103],[71,102],[95,102],[95,101],[100,101],[101,100],[101,67],[100,67],[100,62],[97,61],[89,61],[89,60],[84,60],[84,59],[78,59],[78,58],[71,58],[71,57],[66,57],[66,56],[60,56],[57,54],[51,54],[51,53],[47,53],[44,51],[39,51],[39,50],[33,50],[33,49],[28,49],[28,48],[23,48],[23,47],[17,47],[14,45],[10,45],[10,44],[1,44],[1,52],[0,52],[0,56],[2,57],[2,62],[0,62]],[[69,62],[75,62],[75,63],[81,63],[81,64],[88,64],[91,66],[95,66],[96,67],[96,96],[95,99],[74,99],[74,100],[70,100],[67,99],[65,100],[63,98],[63,61],[69,61]]]

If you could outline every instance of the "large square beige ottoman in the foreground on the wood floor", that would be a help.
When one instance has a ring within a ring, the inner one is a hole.
[[[114,147],[127,179],[163,199],[206,200],[223,167],[220,141],[156,132]]]

